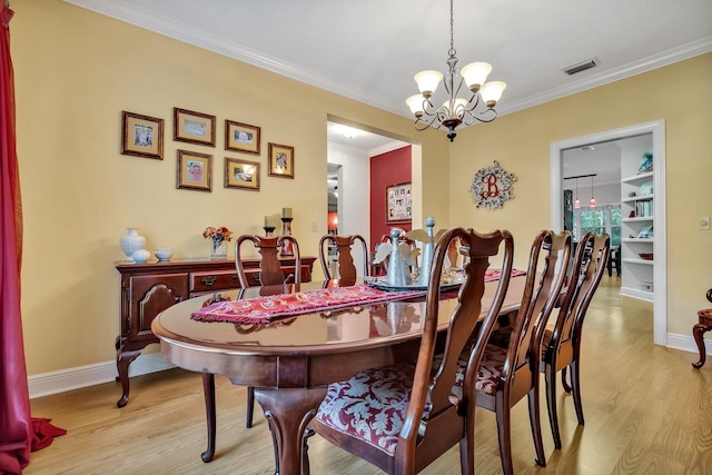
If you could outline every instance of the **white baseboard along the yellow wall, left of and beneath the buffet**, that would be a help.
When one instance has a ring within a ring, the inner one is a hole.
[[[160,353],[141,355],[129,366],[129,377],[161,372],[175,367],[164,359]],[[51,373],[32,375],[27,378],[30,399],[65,393],[80,387],[116,380],[118,376],[116,360],[97,363],[96,365],[79,366]],[[117,399],[121,394],[117,393]]]

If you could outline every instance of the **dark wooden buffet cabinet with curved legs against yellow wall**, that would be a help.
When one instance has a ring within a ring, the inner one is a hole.
[[[301,281],[312,280],[316,257],[301,257]],[[280,258],[285,277],[294,274],[295,259]],[[245,275],[259,285],[259,258],[244,260]],[[129,400],[129,365],[158,338],[151,321],[166,308],[187,298],[239,288],[235,261],[184,259],[148,264],[116,263],[121,274],[121,334],[116,337],[116,367],[123,394],[116,403]]]

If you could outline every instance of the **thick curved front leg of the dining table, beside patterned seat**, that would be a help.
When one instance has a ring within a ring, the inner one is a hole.
[[[280,475],[298,475],[303,471],[303,446],[307,424],[326,396],[322,388],[255,388],[279,454]],[[308,473],[308,467],[305,467]]]

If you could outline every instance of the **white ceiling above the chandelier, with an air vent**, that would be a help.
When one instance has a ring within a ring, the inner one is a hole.
[[[413,75],[444,71],[449,47],[445,0],[65,1],[405,117]],[[507,83],[500,115],[712,51],[710,0],[455,0],[454,11],[459,66],[487,61]],[[596,68],[562,71],[592,58]]]

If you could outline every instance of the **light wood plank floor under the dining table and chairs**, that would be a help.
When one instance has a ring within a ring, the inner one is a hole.
[[[619,296],[620,278],[604,277],[584,326],[583,406],[578,426],[571,397],[558,386],[563,449],[555,451],[542,412],[547,467],[534,463],[526,403],[514,408],[517,474],[712,474],[712,362],[653,345],[652,305]],[[266,420],[245,428],[245,388],[216,377],[216,459],[200,462],[206,424],[200,376],[170,369],[131,379],[122,409],[118,383],[32,400],[32,415],[68,434],[33,453],[32,474],[269,474]],[[478,409],[479,410],[479,409]],[[477,414],[476,472],[501,473],[494,415]],[[312,473],[377,474],[372,465],[315,436]],[[458,474],[457,449],[424,473]]]

